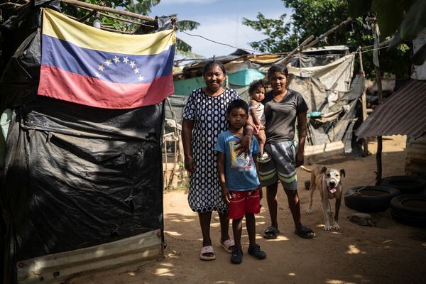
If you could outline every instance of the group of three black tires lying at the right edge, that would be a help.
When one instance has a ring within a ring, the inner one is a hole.
[[[384,178],[380,186],[354,187],[346,192],[347,207],[359,212],[384,212],[391,207],[396,222],[426,227],[426,180],[405,175]]]

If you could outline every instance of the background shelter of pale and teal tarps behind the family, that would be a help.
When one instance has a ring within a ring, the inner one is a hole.
[[[296,54],[288,64],[290,88],[305,98],[308,114],[307,160],[319,160],[336,153],[351,153],[357,148],[353,129],[357,121],[359,97],[364,78],[354,74],[354,53],[346,46],[309,48]],[[284,55],[227,55],[214,58],[224,63],[225,84],[249,100],[249,84],[265,77],[272,64],[283,62]],[[209,58],[208,60],[212,60]],[[204,87],[202,68],[208,60],[197,61],[175,73],[173,99],[184,104],[182,96]],[[178,105],[176,105],[178,108]],[[179,111],[177,111],[178,113]],[[180,122],[180,121],[179,121]]]

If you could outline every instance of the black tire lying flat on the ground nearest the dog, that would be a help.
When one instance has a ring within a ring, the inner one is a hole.
[[[394,187],[352,187],[344,195],[344,204],[358,212],[384,212],[389,208],[392,198],[397,195],[400,195],[400,191]]]

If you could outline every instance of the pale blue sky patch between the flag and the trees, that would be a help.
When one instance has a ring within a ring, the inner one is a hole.
[[[285,8],[281,0],[161,0],[160,4],[151,9],[149,16],[178,14],[178,21],[200,23],[197,29],[187,33],[252,50],[249,42],[262,40],[266,35],[244,26],[241,21],[243,17],[255,20],[258,12],[266,18],[278,18],[283,13],[290,15],[290,10]],[[179,31],[177,36],[192,46],[193,53],[206,58],[228,55],[236,50]]]

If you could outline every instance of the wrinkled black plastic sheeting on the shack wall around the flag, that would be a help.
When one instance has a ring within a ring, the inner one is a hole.
[[[17,283],[17,261],[163,229],[164,104],[111,110],[37,96],[39,7],[14,19],[0,25],[3,40],[21,37],[13,52],[1,47],[0,110],[13,109],[0,187],[4,284]]]

